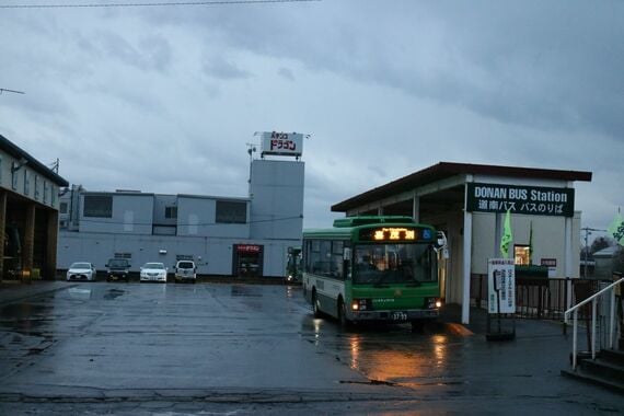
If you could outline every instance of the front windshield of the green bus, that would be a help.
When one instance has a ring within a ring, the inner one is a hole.
[[[423,284],[438,281],[431,244],[356,245],[354,284]]]

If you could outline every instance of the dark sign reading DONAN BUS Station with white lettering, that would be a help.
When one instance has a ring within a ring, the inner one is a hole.
[[[472,212],[506,212],[533,216],[574,216],[574,188],[467,184],[466,209]]]

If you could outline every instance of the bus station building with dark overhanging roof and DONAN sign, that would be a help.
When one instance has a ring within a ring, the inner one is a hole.
[[[441,296],[462,307],[470,323],[471,280],[500,257],[506,212],[510,253],[517,265],[547,266],[548,277],[578,278],[580,211],[577,181],[591,172],[440,162],[332,206],[356,215],[412,216],[443,231],[448,256],[440,269]],[[571,298],[568,299],[568,303]]]

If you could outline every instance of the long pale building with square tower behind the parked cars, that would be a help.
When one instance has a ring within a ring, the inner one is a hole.
[[[198,275],[284,276],[288,247],[301,244],[304,163],[300,152],[294,161],[264,154],[251,162],[245,197],[72,186],[61,196],[58,268],[83,261],[104,269],[124,257],[138,271],[147,262],[194,259]]]

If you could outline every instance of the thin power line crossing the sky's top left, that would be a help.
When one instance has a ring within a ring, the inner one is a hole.
[[[154,8],[154,7],[185,7],[185,5],[241,5],[241,4],[269,4],[269,3],[307,3],[323,0],[209,0],[209,1],[161,1],[146,3],[56,3],[56,4],[1,4],[0,9],[96,9],[96,8]]]

